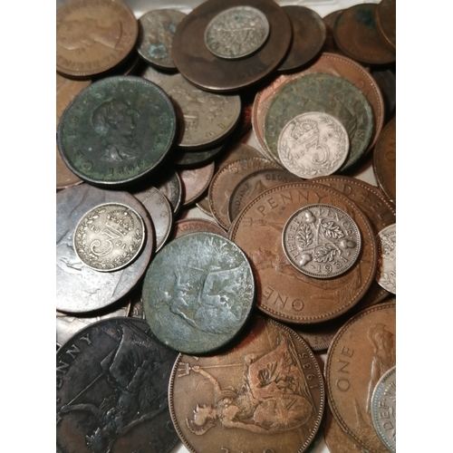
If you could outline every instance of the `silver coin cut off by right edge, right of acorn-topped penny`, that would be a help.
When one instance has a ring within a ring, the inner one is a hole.
[[[376,281],[391,294],[396,294],[396,224],[381,229],[378,247]]]

